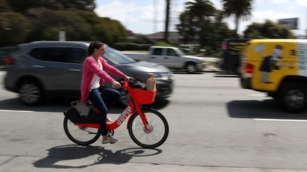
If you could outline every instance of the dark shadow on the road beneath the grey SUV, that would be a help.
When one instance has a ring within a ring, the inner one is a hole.
[[[70,108],[70,102],[75,101],[76,99],[72,98],[48,98],[41,105],[28,106],[24,105],[19,101],[18,98],[9,98],[6,100],[0,101],[0,110],[29,110],[36,112],[55,112],[61,113]],[[146,105],[150,108],[160,110],[166,108],[170,103],[168,100],[158,100],[152,103],[151,105]],[[114,105],[109,113],[122,113],[124,107],[119,105]]]

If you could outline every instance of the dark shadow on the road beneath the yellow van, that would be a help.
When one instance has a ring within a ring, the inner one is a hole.
[[[307,120],[305,113],[286,113],[274,99],[264,101],[231,101],[227,103],[230,117],[280,120]]]

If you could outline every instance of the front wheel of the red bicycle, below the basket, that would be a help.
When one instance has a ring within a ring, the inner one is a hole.
[[[155,148],[161,146],[168,137],[168,122],[157,110],[142,108],[151,131],[146,131],[139,113],[134,113],[128,124],[131,139],[140,147]]]

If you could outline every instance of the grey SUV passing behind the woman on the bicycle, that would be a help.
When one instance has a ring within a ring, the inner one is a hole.
[[[46,96],[80,98],[82,62],[87,57],[89,42],[38,41],[16,45],[7,67],[5,88],[19,93],[27,105],[41,103]],[[106,46],[104,59],[127,76],[146,83],[150,74],[156,77],[156,98],[168,98],[173,91],[173,74],[166,67],[149,62],[135,62],[112,47]],[[120,81],[116,76],[112,76]],[[106,83],[107,86],[108,83]],[[126,105],[129,97],[124,90],[120,103]]]

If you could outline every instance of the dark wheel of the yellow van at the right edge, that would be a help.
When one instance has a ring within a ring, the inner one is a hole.
[[[306,108],[306,86],[303,84],[286,84],[281,88],[279,101],[289,113],[301,113]]]

